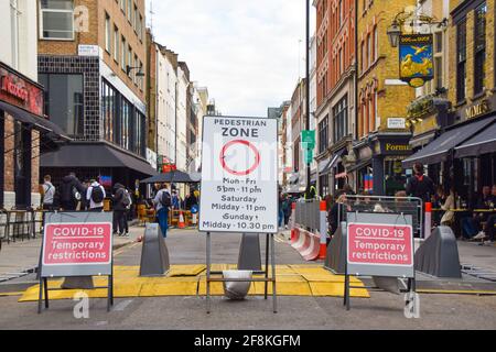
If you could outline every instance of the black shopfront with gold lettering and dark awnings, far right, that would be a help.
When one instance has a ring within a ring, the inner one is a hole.
[[[492,97],[456,110],[452,120],[460,122],[441,129],[440,135],[403,166],[429,165],[430,170],[439,170],[432,175],[436,185],[445,191],[453,189],[462,205],[473,205],[482,188],[496,182],[495,103]]]

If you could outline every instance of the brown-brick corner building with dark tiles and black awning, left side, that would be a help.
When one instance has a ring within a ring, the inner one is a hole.
[[[74,170],[101,177],[108,189],[133,187],[154,173],[147,162],[144,0],[39,3],[45,111],[74,140],[42,157],[42,173],[55,184]]]

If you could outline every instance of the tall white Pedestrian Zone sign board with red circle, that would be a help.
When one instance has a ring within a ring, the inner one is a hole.
[[[200,230],[278,231],[278,122],[205,117]]]

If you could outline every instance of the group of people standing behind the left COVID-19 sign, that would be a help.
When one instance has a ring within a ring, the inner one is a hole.
[[[42,208],[47,211],[104,211],[107,198],[105,187],[98,178],[82,183],[74,173],[62,179],[60,187],[46,175],[42,186]],[[131,217],[132,196],[121,184],[114,186],[111,196],[114,210],[114,234],[129,237],[128,221]]]

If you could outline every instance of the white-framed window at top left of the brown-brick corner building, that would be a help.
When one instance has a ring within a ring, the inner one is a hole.
[[[73,0],[41,0],[40,32],[44,40],[74,40]]]

